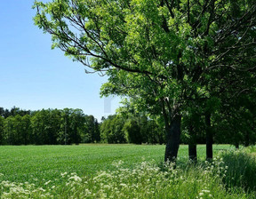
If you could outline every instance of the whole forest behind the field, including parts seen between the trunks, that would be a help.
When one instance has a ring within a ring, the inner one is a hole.
[[[252,123],[254,107],[249,107],[240,108],[240,113],[239,109],[234,112],[242,114],[241,117],[223,118],[221,113],[214,117],[214,143],[231,144],[236,147],[255,145],[256,133]],[[100,123],[93,115],[85,115],[83,110],[78,108],[31,111],[19,107],[12,107],[10,110],[0,107],[0,115],[1,145],[166,143],[163,118],[150,118],[147,113],[138,113],[131,104],[119,107],[116,115],[102,117]],[[204,115],[193,115],[193,121],[190,117],[184,117],[181,126],[180,143],[191,144],[193,141],[196,144],[205,144],[207,123]],[[189,133],[191,131],[195,132],[193,136]]]

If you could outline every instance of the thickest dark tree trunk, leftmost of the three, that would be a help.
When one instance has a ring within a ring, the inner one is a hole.
[[[166,147],[164,161],[174,162],[178,155],[178,150],[180,147],[180,123],[181,115],[176,115],[172,119],[170,126],[165,126],[166,128]]]

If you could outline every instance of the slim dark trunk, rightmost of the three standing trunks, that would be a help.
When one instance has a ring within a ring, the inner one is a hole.
[[[205,123],[206,123],[206,159],[212,159],[212,144],[213,144],[213,135],[212,135],[212,126],[211,126],[211,114],[205,114]]]

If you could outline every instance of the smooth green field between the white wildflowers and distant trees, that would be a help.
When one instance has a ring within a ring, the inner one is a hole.
[[[111,163],[123,160],[127,167],[144,160],[161,163],[164,160],[164,145],[98,145],[79,146],[1,146],[0,173],[12,181],[34,181],[52,179],[60,172],[76,172],[90,175],[96,171],[108,170]],[[214,146],[215,155],[219,150],[228,150],[228,145]],[[197,149],[199,158],[205,158],[205,146]],[[188,146],[180,146],[179,157],[188,159]]]

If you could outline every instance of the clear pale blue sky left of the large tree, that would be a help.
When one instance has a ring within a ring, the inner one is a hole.
[[[114,114],[119,99],[100,99],[100,85],[107,78],[87,75],[82,64],[69,60],[59,49],[51,50],[51,36],[32,20],[33,3],[0,4],[0,107],[81,108],[98,119]]]

